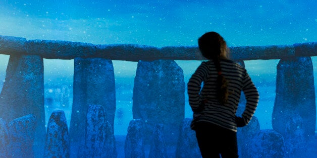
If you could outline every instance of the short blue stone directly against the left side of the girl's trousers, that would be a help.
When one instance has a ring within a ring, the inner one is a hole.
[[[176,157],[179,158],[200,158],[200,150],[198,147],[196,133],[190,129],[192,118],[185,118],[181,125],[178,137]]]

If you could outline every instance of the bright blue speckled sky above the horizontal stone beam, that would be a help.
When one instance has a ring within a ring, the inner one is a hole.
[[[93,44],[197,45],[217,31],[229,46],[317,41],[316,1],[0,2],[0,35]]]

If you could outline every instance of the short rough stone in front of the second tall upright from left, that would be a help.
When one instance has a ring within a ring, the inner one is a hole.
[[[85,157],[117,157],[115,136],[103,107],[89,105],[85,138]]]

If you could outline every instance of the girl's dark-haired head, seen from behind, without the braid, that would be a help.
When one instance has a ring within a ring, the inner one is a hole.
[[[198,47],[207,59],[228,58],[227,44],[217,32],[207,32],[198,39]]]

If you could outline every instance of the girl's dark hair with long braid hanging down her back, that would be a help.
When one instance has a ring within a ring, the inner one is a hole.
[[[227,44],[223,37],[217,32],[207,32],[198,39],[198,47],[201,55],[208,60],[213,60],[218,72],[217,77],[217,99],[221,104],[228,101],[228,81],[222,74],[220,59],[227,59]]]

